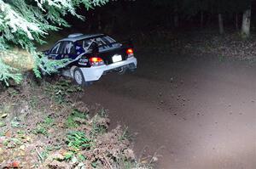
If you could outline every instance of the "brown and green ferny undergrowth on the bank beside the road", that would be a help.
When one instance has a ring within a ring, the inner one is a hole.
[[[3,91],[0,168],[152,168],[135,157],[127,128],[109,130],[106,110],[75,101],[82,91],[65,79]]]

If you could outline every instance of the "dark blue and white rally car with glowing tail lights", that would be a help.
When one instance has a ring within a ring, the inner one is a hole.
[[[44,54],[47,59],[68,59],[63,74],[82,86],[110,71],[122,74],[137,69],[131,41],[117,42],[104,34],[71,34]]]

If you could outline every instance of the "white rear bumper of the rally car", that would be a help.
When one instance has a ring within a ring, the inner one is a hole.
[[[84,74],[85,82],[97,81],[101,76],[111,70],[115,70],[120,67],[128,67],[129,69],[137,68],[137,59],[135,57],[128,58],[126,60],[111,64],[111,65],[101,65],[90,68],[80,68]]]

